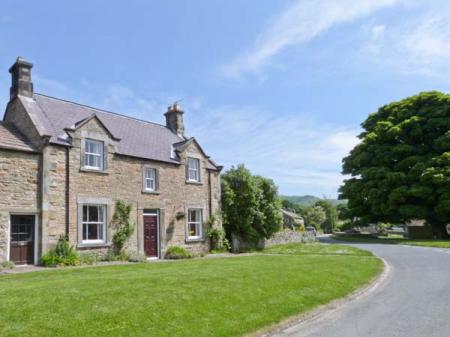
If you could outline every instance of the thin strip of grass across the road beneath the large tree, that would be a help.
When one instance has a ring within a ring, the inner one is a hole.
[[[435,248],[450,248],[450,240],[435,239],[406,239],[398,236],[395,237],[371,237],[369,235],[335,235],[335,239],[348,242],[364,242],[364,243],[386,243],[400,244],[408,246],[422,246]]]

